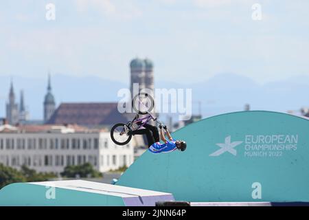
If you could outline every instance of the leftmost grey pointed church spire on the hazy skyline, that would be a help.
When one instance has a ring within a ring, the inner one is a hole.
[[[17,124],[19,122],[19,107],[15,103],[13,82],[11,82],[9,99],[6,104],[6,118],[9,124]]]

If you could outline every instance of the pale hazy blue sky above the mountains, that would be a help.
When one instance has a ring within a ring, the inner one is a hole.
[[[55,21],[45,19],[47,3]],[[262,21],[251,17],[254,3]],[[308,0],[1,1],[0,76],[46,78],[50,69],[125,83],[135,56],[178,83],[225,72],[259,83],[308,76],[308,9]]]

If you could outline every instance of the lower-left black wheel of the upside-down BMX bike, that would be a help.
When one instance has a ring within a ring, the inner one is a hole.
[[[132,134],[131,129],[124,123],[115,124],[111,129],[111,140],[117,145],[126,145],[130,142]]]

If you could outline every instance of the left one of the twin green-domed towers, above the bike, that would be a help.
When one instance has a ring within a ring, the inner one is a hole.
[[[138,83],[139,91],[145,88],[145,62],[140,58],[135,58],[130,62],[131,83],[130,91],[131,96],[134,95],[133,84]],[[138,92],[139,92],[138,91]],[[133,97],[132,97],[133,98]]]

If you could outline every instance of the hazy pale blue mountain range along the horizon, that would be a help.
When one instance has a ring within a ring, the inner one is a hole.
[[[5,115],[8,100],[10,76],[0,76],[0,117]],[[117,91],[128,88],[128,83],[120,83],[95,76],[76,77],[66,74],[52,76],[52,92],[56,104],[60,102],[117,102]],[[309,106],[307,91],[309,76],[293,76],[263,85],[249,77],[238,74],[217,74],[208,80],[194,84],[179,84],[155,81],[156,88],[192,89],[193,111],[198,112],[201,102],[203,117],[230,111],[242,111],[244,104],[252,110],[298,111]],[[25,104],[32,119],[43,118],[43,100],[47,91],[46,78],[15,76],[14,91],[19,102],[19,91],[23,89]]]

